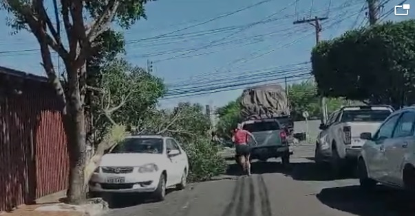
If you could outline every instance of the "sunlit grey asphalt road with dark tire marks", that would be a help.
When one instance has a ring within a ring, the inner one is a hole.
[[[120,197],[107,216],[415,215],[414,201],[401,192],[379,186],[365,193],[355,179],[330,180],[312,161],[313,147],[297,146],[290,169],[277,160],[254,163],[253,176],[246,177],[230,165],[222,180],[170,191],[164,202]]]

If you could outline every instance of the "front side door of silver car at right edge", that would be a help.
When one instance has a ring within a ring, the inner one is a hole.
[[[385,146],[392,144],[392,134],[400,114],[392,115],[379,127],[372,140],[363,145],[366,167],[371,178],[387,182],[387,158]]]

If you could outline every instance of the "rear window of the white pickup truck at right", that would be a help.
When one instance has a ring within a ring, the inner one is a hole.
[[[384,121],[390,114],[390,110],[345,110],[341,122]]]

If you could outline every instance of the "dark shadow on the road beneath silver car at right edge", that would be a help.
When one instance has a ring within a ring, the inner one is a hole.
[[[415,215],[413,195],[381,185],[370,192],[359,186],[327,188],[317,194],[317,199],[330,208],[360,216]]]

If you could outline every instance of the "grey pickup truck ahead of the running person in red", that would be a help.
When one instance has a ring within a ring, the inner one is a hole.
[[[244,130],[251,132],[258,142],[254,146],[252,141],[249,141],[252,147],[251,158],[262,161],[268,158],[280,158],[283,165],[290,163],[290,145],[287,139],[287,130],[277,119],[260,119],[244,121],[242,123]]]

